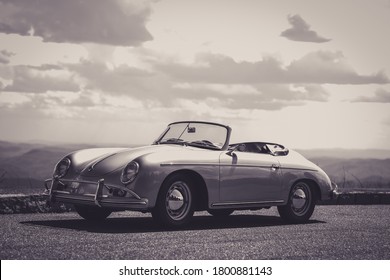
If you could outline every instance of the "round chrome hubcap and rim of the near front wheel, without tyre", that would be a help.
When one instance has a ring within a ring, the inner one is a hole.
[[[184,182],[175,182],[168,189],[165,207],[170,218],[181,220],[190,211],[191,193]]]

